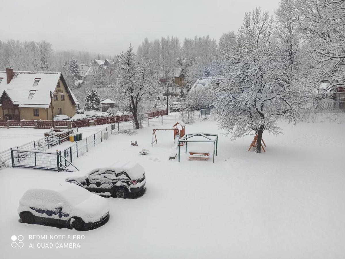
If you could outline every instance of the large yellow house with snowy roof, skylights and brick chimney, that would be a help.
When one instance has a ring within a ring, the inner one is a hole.
[[[72,117],[76,105],[79,102],[61,72],[0,71],[0,120],[51,120],[51,109],[53,116]]]

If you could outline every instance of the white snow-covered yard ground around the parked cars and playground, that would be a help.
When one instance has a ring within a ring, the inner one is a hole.
[[[168,160],[173,133],[158,131],[158,145],[151,147],[157,127],[110,137],[76,159],[76,166],[90,170],[117,160],[138,161],[147,191],[137,199],[107,198],[109,222],[86,232],[21,224],[17,214],[26,189],[84,172],[1,170],[0,258],[344,258],[345,124],[280,126],[284,135],[264,135],[262,154],[248,152],[253,137],[230,141],[220,135],[214,164],[188,161],[185,153],[180,163]],[[186,126],[186,133],[198,131],[224,132],[211,121]],[[149,155],[139,156],[142,148]],[[211,151],[212,146],[190,143],[188,149]],[[29,240],[29,235],[53,234],[85,239]],[[12,235],[23,235],[23,248],[11,247]],[[53,248],[29,248],[30,243]],[[56,243],[80,248],[55,248]]]

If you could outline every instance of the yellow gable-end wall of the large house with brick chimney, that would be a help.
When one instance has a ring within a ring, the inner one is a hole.
[[[54,92],[62,91],[62,93],[67,93],[65,87],[63,87],[62,81],[60,81],[60,87],[57,87]],[[61,100],[61,94],[55,93],[53,95],[58,96],[58,100],[54,101],[53,97],[53,115],[58,115],[59,111],[58,108],[62,108],[62,113],[65,114],[68,117],[72,117],[76,114],[76,106],[75,104],[72,104],[70,98],[68,95],[64,94],[65,100]],[[48,109],[48,120],[51,120],[51,108]]]

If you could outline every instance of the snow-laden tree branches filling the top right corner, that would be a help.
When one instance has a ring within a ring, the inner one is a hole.
[[[315,88],[327,81],[327,91],[344,87],[345,0],[298,0],[296,9],[310,63],[304,81]]]

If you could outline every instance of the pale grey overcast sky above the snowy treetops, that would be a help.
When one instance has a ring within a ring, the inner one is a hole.
[[[273,15],[278,0],[3,0],[0,40],[47,40],[54,50],[114,55],[129,43],[136,50],[145,37],[218,40],[237,32],[244,13],[258,6]]]

